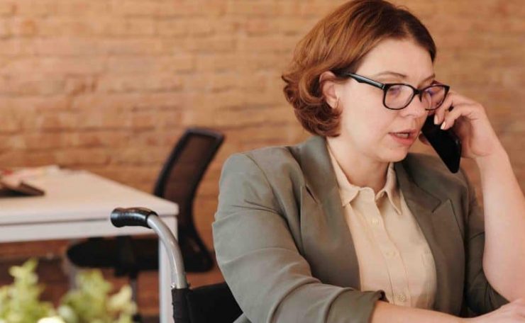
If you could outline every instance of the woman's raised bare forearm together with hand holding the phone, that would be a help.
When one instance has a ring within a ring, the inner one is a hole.
[[[462,157],[474,159],[480,169],[487,280],[507,300],[525,297],[525,198],[485,108],[451,91],[436,111],[435,123],[443,130],[453,128]]]

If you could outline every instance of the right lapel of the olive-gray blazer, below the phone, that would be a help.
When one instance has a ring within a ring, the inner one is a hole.
[[[458,268],[462,268],[465,263],[465,255],[453,205],[451,200],[441,201],[418,186],[409,175],[404,161],[395,163],[399,189],[416,218],[436,263],[434,309],[459,313],[463,299],[463,274],[461,270],[458,272]]]

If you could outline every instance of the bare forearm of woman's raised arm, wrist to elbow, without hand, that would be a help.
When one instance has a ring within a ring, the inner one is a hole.
[[[525,297],[525,198],[503,148],[476,162],[485,208],[485,276],[507,300],[516,300]]]

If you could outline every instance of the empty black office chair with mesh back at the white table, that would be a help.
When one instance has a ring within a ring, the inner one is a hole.
[[[160,171],[153,193],[179,205],[177,232],[186,271],[203,272],[214,266],[214,259],[202,242],[193,220],[197,187],[224,136],[220,132],[189,128],[175,145]],[[67,250],[70,261],[79,267],[114,268],[116,276],[128,276],[136,295],[140,271],[158,269],[157,238],[90,238]]]

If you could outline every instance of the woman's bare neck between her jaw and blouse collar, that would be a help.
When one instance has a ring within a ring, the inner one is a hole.
[[[355,152],[347,142],[339,139],[327,137],[326,142],[346,179],[355,186],[370,187],[375,193],[385,187],[389,163],[370,160],[367,156]]]

